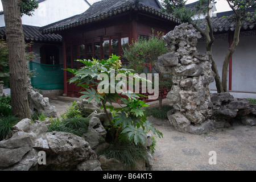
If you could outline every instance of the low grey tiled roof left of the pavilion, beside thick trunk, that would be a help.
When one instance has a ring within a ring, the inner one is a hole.
[[[59,34],[42,34],[40,27],[22,25],[24,38],[33,42],[61,42],[62,37]],[[5,27],[0,27],[0,37],[5,36]]]

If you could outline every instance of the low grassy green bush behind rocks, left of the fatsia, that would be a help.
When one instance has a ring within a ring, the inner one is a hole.
[[[60,118],[52,119],[51,124],[49,124],[48,132],[61,131],[65,133],[72,133],[79,137],[88,131],[90,118],[74,117],[65,118],[62,121]]]

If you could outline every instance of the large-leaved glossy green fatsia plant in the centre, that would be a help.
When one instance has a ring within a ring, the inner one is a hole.
[[[114,143],[122,135],[122,137],[126,136],[127,139],[135,144],[144,144],[146,133],[150,130],[154,134],[158,134],[159,137],[163,136],[160,131],[156,130],[147,121],[142,107],[147,107],[148,105],[146,102],[138,100],[142,95],[127,89],[127,85],[131,80],[143,80],[144,78],[134,75],[133,69],[122,68],[119,56],[112,54],[108,60],[77,61],[85,66],[79,70],[65,69],[74,75],[69,82],[82,87],[80,92],[82,96],[80,98],[87,98],[88,102],[94,99],[98,103],[102,103],[102,107],[109,119],[110,132]],[[127,97],[127,99],[123,98],[123,96]],[[113,105],[106,105],[107,102],[112,104],[117,100],[121,100],[126,106],[114,108]],[[115,112],[113,119],[110,118],[107,109]]]

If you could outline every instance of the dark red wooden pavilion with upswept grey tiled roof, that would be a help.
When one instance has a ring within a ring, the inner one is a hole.
[[[139,36],[150,36],[152,30],[155,34],[173,30],[179,20],[161,9],[157,0],[102,0],[84,13],[44,26],[41,31],[62,36],[64,69],[77,69],[82,65],[74,60],[108,59],[112,53],[122,56],[123,48]],[[79,97],[80,88],[67,82],[71,77],[64,71],[64,96]]]

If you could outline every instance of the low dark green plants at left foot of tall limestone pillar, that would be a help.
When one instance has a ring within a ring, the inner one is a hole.
[[[152,115],[152,117],[159,118],[159,119],[168,119],[167,113],[171,109],[173,109],[173,107],[170,105],[163,105],[161,110],[159,110],[158,107],[150,107],[146,109],[144,114],[147,116]]]

